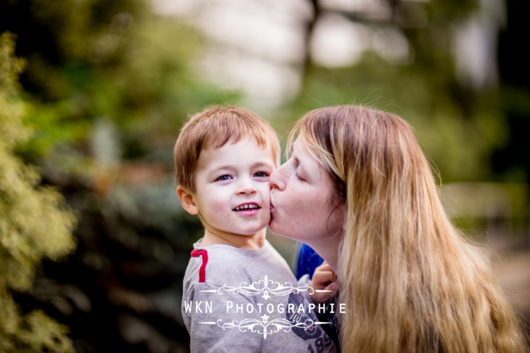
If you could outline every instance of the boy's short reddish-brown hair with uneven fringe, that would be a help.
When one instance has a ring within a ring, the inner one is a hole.
[[[195,171],[202,150],[221,148],[250,137],[262,148],[270,148],[279,165],[279,141],[266,121],[242,108],[212,107],[199,112],[184,125],[175,143],[175,183],[195,192]]]

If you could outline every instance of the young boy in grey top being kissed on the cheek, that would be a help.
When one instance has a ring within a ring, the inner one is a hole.
[[[317,322],[324,305],[265,239],[279,153],[271,126],[234,107],[195,114],[177,139],[177,194],[204,225],[181,305],[192,352],[336,351]]]

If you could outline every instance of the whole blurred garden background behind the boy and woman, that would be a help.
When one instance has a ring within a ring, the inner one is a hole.
[[[188,352],[202,234],[173,144],[237,104],[395,112],[530,319],[530,62],[516,0],[1,0],[0,350]],[[70,235],[72,234],[72,235]],[[296,243],[269,239],[293,263]],[[71,341],[70,341],[71,340]]]

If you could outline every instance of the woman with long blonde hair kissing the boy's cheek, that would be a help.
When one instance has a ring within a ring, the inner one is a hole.
[[[271,175],[276,234],[337,273],[344,352],[524,352],[489,260],[449,221],[415,135],[395,115],[313,110]]]

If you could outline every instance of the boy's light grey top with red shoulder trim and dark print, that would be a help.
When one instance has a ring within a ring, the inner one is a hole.
[[[307,276],[297,281],[268,241],[258,250],[199,243],[181,306],[191,352],[337,351],[317,319]]]

